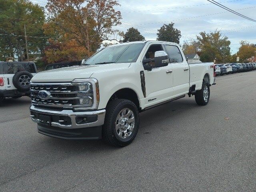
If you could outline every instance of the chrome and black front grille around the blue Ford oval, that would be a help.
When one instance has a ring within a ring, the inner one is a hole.
[[[52,106],[62,108],[80,107],[77,100],[88,98],[86,92],[79,90],[79,84],[61,83],[61,84],[30,84],[31,102],[38,106]],[[50,93],[50,98],[42,99],[38,93],[42,90]]]

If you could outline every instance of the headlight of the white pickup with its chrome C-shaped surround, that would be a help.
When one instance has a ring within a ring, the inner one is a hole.
[[[100,101],[98,81],[94,78],[74,79],[72,81],[76,92],[76,107],[74,110],[97,109]]]

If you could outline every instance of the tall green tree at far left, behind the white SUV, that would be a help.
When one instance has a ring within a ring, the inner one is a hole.
[[[28,39],[28,52],[43,54],[46,44],[45,38],[32,38],[30,36],[44,37],[42,25],[44,23],[44,8],[32,4],[28,0],[0,0],[0,60],[17,54],[20,60],[26,57],[24,26],[26,26]]]

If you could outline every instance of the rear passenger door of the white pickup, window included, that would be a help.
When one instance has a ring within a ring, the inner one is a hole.
[[[173,71],[174,97],[187,94],[190,88],[190,72],[188,63],[183,59],[182,52],[178,46],[173,44],[165,44],[165,48]]]

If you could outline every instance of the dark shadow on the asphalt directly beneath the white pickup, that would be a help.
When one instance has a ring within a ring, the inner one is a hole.
[[[180,113],[184,111],[192,112],[197,107],[199,106],[196,105],[196,102],[193,99],[190,100],[185,98],[140,113],[140,129],[136,136],[136,140],[141,139],[141,135],[148,130],[149,125],[153,127],[155,126],[157,129],[158,122],[167,120],[170,124],[170,118],[180,118]],[[118,148],[106,144],[104,140],[63,140],[47,136],[44,136],[43,140],[44,144],[48,143],[49,150],[54,146],[55,149],[57,147],[58,150],[62,152],[74,150],[76,150],[76,152],[112,151]]]

